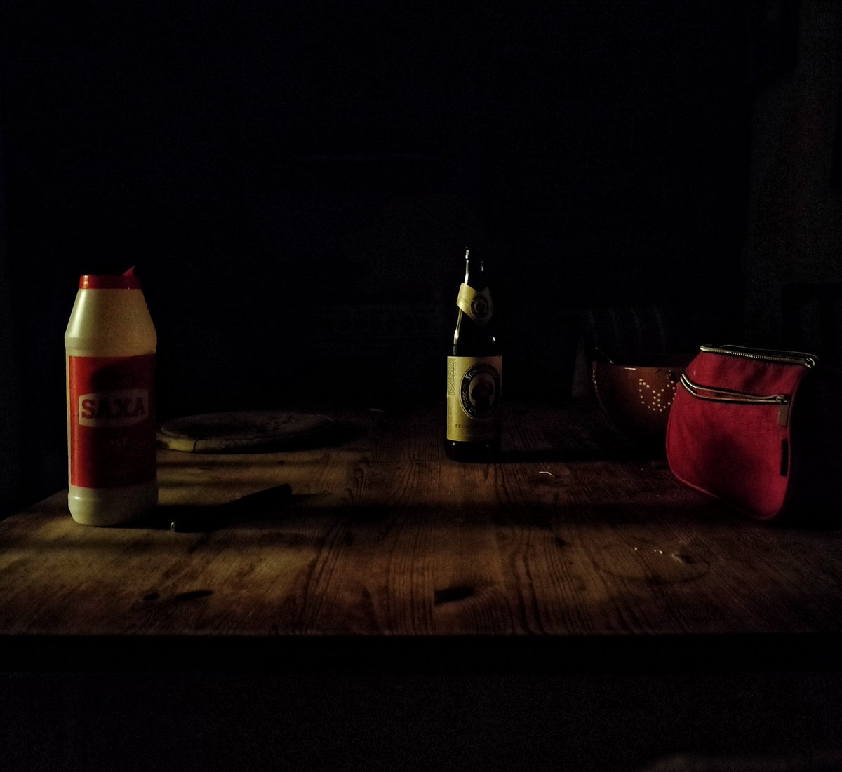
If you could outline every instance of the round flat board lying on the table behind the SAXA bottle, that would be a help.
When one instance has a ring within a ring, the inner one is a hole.
[[[158,443],[192,453],[258,452],[312,445],[333,427],[328,415],[242,410],[186,415],[166,421]]]

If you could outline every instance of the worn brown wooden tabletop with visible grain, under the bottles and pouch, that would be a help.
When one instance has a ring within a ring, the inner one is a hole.
[[[842,531],[769,526],[629,452],[590,405],[508,405],[500,463],[442,450],[439,405],[334,413],[321,447],[162,450],[156,519],[0,521],[0,636],[658,637],[842,632]],[[288,483],[209,532],[173,516]]]

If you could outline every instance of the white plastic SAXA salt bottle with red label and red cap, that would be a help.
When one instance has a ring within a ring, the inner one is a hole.
[[[64,345],[70,513],[86,526],[136,520],[157,505],[157,336],[133,267],[79,279]]]

